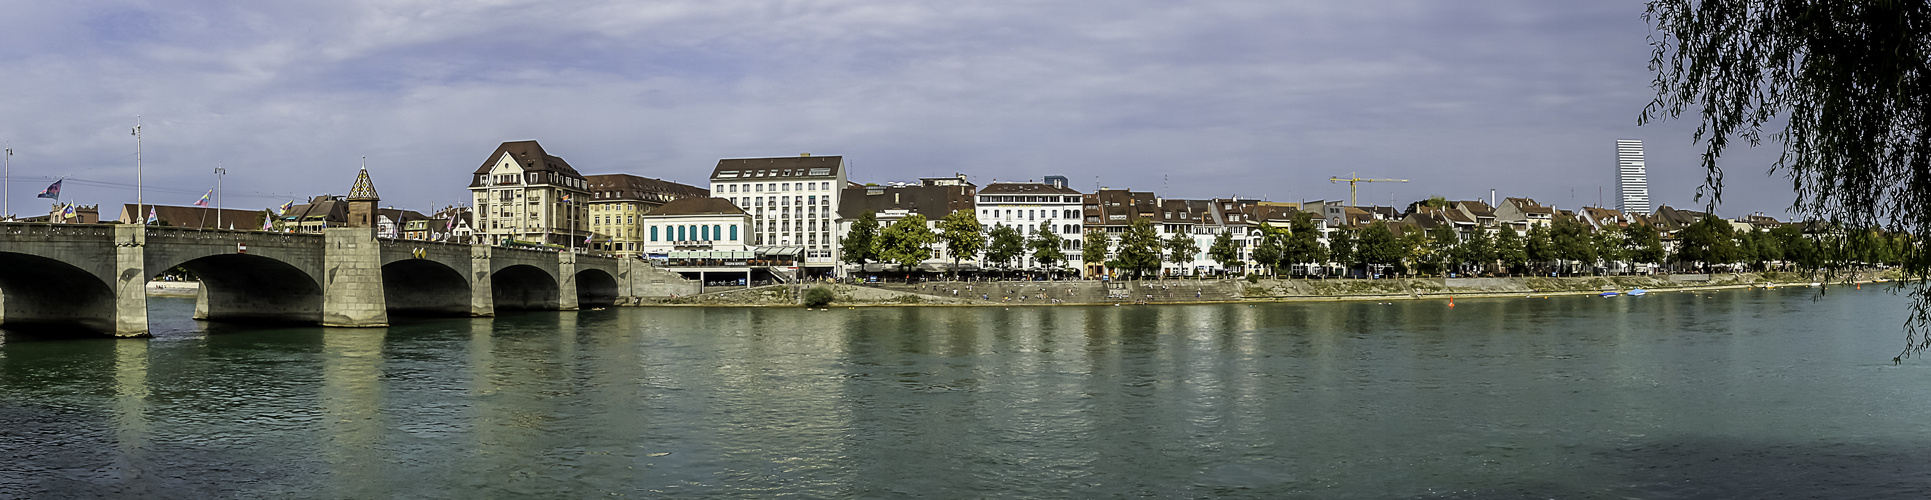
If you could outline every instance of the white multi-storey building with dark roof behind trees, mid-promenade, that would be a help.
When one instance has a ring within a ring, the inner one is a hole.
[[[1085,224],[1079,222],[1079,191],[1066,187],[1066,178],[1047,178],[1047,181],[994,181],[979,189],[973,212],[979,224],[991,232],[996,226],[1012,226],[1020,236],[1031,239],[1041,224],[1052,228],[1064,239],[1064,268],[1081,268],[1079,249],[1085,243]],[[1020,259],[1021,268],[1037,266],[1031,253]]]

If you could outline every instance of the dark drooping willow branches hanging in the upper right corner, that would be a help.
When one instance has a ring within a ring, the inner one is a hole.
[[[1639,122],[1695,110],[1711,205],[1730,139],[1759,145],[1773,127],[1798,218],[1931,232],[1931,4],[1651,0],[1643,19],[1659,31],[1657,98]],[[1910,255],[1908,276],[1931,272],[1931,253]],[[1912,297],[1900,359],[1931,347],[1931,282]]]

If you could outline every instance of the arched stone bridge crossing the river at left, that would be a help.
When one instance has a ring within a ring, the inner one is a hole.
[[[695,290],[633,259],[377,239],[369,228],[0,224],[0,322],[147,336],[147,282],[176,266],[201,278],[195,319],[324,326],[568,311]]]

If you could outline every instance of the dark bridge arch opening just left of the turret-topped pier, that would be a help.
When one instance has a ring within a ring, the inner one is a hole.
[[[174,264],[201,280],[195,319],[236,322],[321,322],[322,284],[280,259],[216,253]],[[151,268],[153,274],[174,266]],[[149,276],[153,278],[153,276]]]

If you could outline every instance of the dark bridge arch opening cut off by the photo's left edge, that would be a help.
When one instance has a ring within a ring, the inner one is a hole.
[[[114,334],[114,288],[58,259],[0,253],[0,322],[10,330]]]

